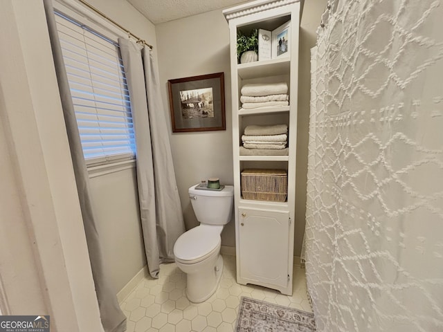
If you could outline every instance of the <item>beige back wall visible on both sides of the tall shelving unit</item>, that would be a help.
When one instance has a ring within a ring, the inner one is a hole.
[[[298,101],[296,234],[294,255],[300,256],[305,230],[307,133],[309,127],[310,57],[316,42],[316,28],[326,0],[306,1],[300,30]],[[172,154],[177,172],[181,205],[187,228],[197,225],[188,199],[188,187],[208,176],[233,183],[232,111],[230,109],[229,29],[221,10],[170,21],[156,26],[160,83],[169,112],[168,80],[224,71],[226,131],[172,133]],[[170,115],[168,113],[168,118]],[[222,234],[222,244],[235,246],[235,228],[230,223]]]

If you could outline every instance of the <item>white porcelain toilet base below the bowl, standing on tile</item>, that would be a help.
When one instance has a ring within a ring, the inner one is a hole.
[[[200,303],[211,297],[220,283],[223,273],[223,257],[219,255],[213,268],[204,273],[186,274],[186,296],[190,302]]]

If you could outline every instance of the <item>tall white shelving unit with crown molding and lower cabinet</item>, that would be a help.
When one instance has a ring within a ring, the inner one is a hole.
[[[257,0],[224,10],[230,30],[230,72],[233,109],[233,168],[237,282],[292,294],[293,238],[296,201],[296,144],[298,101],[298,0]],[[291,21],[290,56],[237,64],[237,31],[274,30]],[[287,82],[289,107],[241,109],[240,90],[247,83]],[[250,124],[282,124],[289,128],[289,156],[240,156],[244,128]],[[286,202],[242,198],[241,172],[246,168],[285,169]]]

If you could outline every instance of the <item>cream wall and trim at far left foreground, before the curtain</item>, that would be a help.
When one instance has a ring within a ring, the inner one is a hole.
[[[102,331],[42,1],[2,1],[0,42],[1,310]]]

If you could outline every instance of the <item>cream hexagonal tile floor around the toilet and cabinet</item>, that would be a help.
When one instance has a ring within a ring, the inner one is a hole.
[[[127,332],[233,331],[242,296],[311,312],[305,270],[293,268],[293,295],[235,281],[235,257],[224,255],[224,271],[217,292],[206,302],[186,298],[186,275],[175,264],[162,264],[159,279],[143,279],[120,306],[127,316]]]

